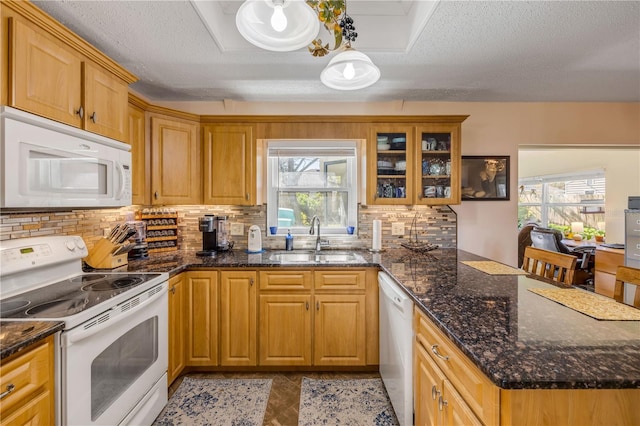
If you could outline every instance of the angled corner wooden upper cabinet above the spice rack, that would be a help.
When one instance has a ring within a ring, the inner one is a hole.
[[[151,117],[151,203],[200,204],[198,124]]]

